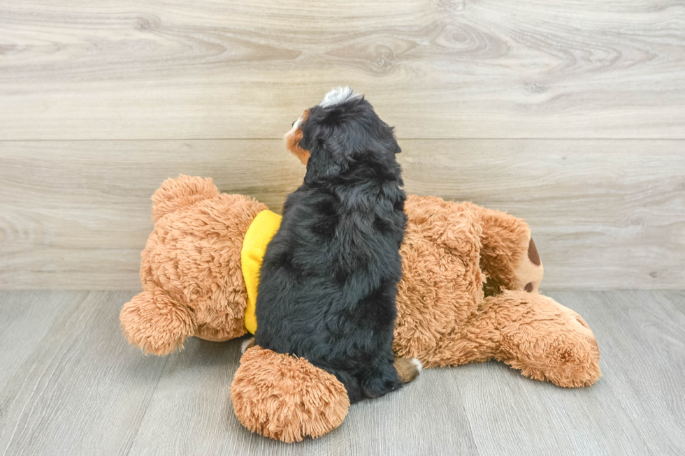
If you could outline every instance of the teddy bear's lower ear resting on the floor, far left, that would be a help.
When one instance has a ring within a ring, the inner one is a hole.
[[[168,355],[183,348],[195,333],[193,312],[161,288],[148,288],[124,304],[120,314],[124,337],[148,354]]]

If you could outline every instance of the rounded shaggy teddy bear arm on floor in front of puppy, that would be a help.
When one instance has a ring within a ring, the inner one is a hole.
[[[231,400],[247,429],[284,442],[331,432],[349,409],[347,392],[336,376],[304,358],[258,345],[240,358]]]

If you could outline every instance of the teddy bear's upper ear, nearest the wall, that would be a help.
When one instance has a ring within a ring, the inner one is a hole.
[[[152,195],[152,222],[181,207],[194,205],[198,201],[214,198],[219,189],[211,177],[190,177],[180,175],[166,179]]]

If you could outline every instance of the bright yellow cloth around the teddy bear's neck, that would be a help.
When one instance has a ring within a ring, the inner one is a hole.
[[[250,227],[247,228],[243,249],[240,250],[240,262],[243,267],[243,277],[247,288],[247,309],[245,309],[245,328],[254,334],[257,331],[257,287],[259,287],[259,271],[264,260],[266,246],[278,231],[282,216],[265,210],[259,212]]]

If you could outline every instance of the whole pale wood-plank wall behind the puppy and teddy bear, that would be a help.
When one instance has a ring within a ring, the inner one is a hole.
[[[649,0],[3,0],[0,288],[139,288],[179,173],[280,211],[340,84],[408,192],[531,223],[543,289],[685,288],[685,6]]]

